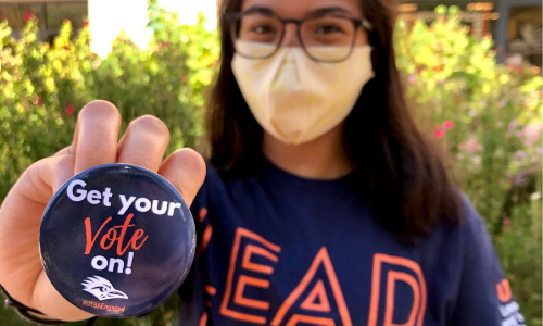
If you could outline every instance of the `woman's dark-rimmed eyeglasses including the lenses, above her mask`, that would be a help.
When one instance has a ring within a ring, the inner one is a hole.
[[[266,59],[281,47],[287,24],[296,25],[298,39],[304,52],[318,62],[336,63],[353,52],[358,27],[372,30],[371,23],[341,14],[304,20],[279,18],[262,9],[230,13],[226,16],[236,52],[248,59]]]

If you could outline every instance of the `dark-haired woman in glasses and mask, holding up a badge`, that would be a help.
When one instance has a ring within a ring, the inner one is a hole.
[[[207,164],[188,149],[162,161],[169,136],[152,116],[117,143],[116,109],[88,104],[72,146],[2,204],[7,292],[52,318],[90,317],[42,271],[40,216],[74,174],[123,162],[192,203],[180,325],[523,325],[481,217],[408,114],[395,5],[225,0]]]

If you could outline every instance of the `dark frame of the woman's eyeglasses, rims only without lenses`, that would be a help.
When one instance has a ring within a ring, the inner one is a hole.
[[[229,14],[226,15],[226,20],[227,20],[228,25],[230,27],[230,38],[231,38],[231,40],[232,40],[233,43],[236,43],[236,40],[238,39],[237,30],[236,30],[238,21],[240,18],[242,18],[244,15],[254,14],[254,13],[255,13],[254,11],[249,10],[249,11],[245,11],[245,12],[235,12],[235,13],[229,13]],[[358,33],[358,27],[362,26],[367,32],[372,32],[374,30],[374,26],[371,25],[371,23],[368,20],[365,20],[365,18],[353,18],[353,17],[345,17],[345,16],[334,16],[334,17],[338,17],[338,18],[343,18],[343,20],[351,21],[351,23],[353,23],[353,26],[354,26],[354,36],[353,36],[353,41],[351,42],[351,50],[349,51],[349,53],[343,59],[339,59],[339,60],[320,60],[318,58],[314,58],[310,53],[310,51],[307,51],[307,49],[306,49],[306,47],[305,47],[305,45],[303,42],[303,39],[302,39],[302,34],[300,32],[300,26],[304,22],[312,21],[312,20],[315,20],[315,18],[318,18],[318,17],[306,17],[306,18],[303,18],[303,20],[294,20],[294,18],[281,18],[281,17],[277,16],[275,14],[264,14],[264,15],[273,17],[273,18],[276,18],[279,22],[281,22],[281,36],[279,38],[279,41],[277,42],[277,48],[270,54],[268,54],[266,57],[254,58],[254,57],[249,57],[249,55],[245,55],[245,54],[239,52],[238,50],[236,50],[236,46],[233,46],[233,50],[239,55],[241,55],[243,58],[247,58],[247,59],[251,59],[251,60],[262,60],[262,59],[267,59],[267,58],[273,57],[281,48],[281,43],[282,43],[282,40],[285,38],[285,30],[286,30],[287,24],[294,24],[294,25],[296,25],[298,40],[300,41],[300,45],[302,46],[302,49],[304,50],[305,54],[307,54],[307,57],[310,57],[312,60],[314,60],[316,62],[339,63],[339,62],[348,60],[349,57],[351,57],[351,54],[353,53],[354,43],[356,41],[356,35]]]

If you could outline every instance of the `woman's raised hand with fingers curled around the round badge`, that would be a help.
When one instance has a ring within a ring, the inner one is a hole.
[[[0,284],[23,304],[48,317],[79,321],[91,317],[66,301],[49,281],[40,262],[41,215],[53,193],[71,177],[108,163],[128,163],[159,173],[188,205],[203,184],[200,154],[181,149],[162,161],[169,142],[166,125],[150,115],[130,123],[121,141],[121,114],[105,101],[93,101],[79,113],[72,145],[28,167],[0,208]]]

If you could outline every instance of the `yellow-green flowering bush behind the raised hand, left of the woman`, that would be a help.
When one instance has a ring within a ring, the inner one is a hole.
[[[218,38],[205,29],[203,15],[198,24],[184,25],[156,1],[150,4],[149,49],[140,50],[122,32],[103,60],[90,51],[88,27],[73,36],[65,21],[49,47],[38,41],[36,20],[27,22],[20,39],[0,23],[0,201],[28,165],[71,143],[77,112],[94,99],[117,106],[122,131],[135,117],[153,114],[169,128],[168,153],[195,147]],[[174,296],[144,317],[100,318],[98,325],[177,325],[177,306]],[[0,321],[30,325],[4,304]]]

